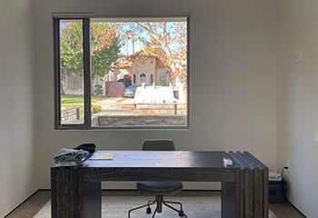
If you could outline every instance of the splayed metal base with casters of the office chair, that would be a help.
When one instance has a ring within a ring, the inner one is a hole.
[[[182,203],[166,202],[166,201],[164,201],[164,196],[163,195],[157,195],[157,196],[154,197],[154,201],[149,201],[147,204],[144,204],[142,206],[135,207],[135,208],[129,210],[128,218],[130,218],[130,213],[132,211],[141,209],[141,208],[146,207],[146,206],[148,206],[146,212],[147,213],[151,213],[150,205],[152,205],[154,203],[157,203],[157,206],[155,207],[155,210],[154,210],[154,215],[155,215],[155,213],[162,213],[163,212],[163,204],[164,204],[168,208],[170,208],[170,209],[174,210],[175,212],[179,213],[179,216],[184,216],[185,218],[187,218],[186,214],[183,211],[183,204]],[[177,209],[175,209],[173,206],[169,205],[168,203],[180,204],[180,211],[178,211]],[[152,216],[152,218],[154,218],[154,215]]]

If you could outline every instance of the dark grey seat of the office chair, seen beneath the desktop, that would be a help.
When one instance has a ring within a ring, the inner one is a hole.
[[[140,193],[166,195],[179,193],[183,189],[181,182],[136,182],[136,188]]]

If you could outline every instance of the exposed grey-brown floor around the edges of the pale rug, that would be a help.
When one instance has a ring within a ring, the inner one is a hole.
[[[183,191],[178,193],[180,196],[219,196],[220,192],[211,191]],[[103,196],[137,196],[136,191],[103,191]],[[36,213],[50,200],[50,191],[38,191],[30,197],[25,203],[22,203],[12,213],[8,214],[7,218],[29,218],[34,217]],[[283,203],[270,203],[271,211],[277,218],[303,218],[302,213],[299,213],[291,203],[284,201]]]

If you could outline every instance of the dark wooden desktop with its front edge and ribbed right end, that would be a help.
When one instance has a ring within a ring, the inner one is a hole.
[[[96,154],[115,155],[112,160],[88,159],[75,167],[74,173],[81,174],[84,181],[235,182],[235,174],[242,170],[268,172],[267,166],[248,152],[98,151]],[[224,165],[224,157],[234,164]]]

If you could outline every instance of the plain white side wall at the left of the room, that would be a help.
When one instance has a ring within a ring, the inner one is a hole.
[[[38,189],[31,0],[0,1],[0,217]]]

